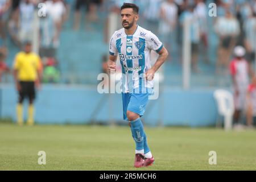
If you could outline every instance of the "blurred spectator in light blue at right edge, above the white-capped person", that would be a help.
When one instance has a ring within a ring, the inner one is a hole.
[[[245,20],[243,30],[245,32],[246,58],[249,63],[253,63],[256,51],[256,13]]]

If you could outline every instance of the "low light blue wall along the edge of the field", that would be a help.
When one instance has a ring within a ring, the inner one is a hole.
[[[16,119],[14,85],[1,85],[1,118]],[[35,102],[35,121],[42,124],[123,123],[120,94],[99,94],[95,86],[43,85]],[[166,88],[148,102],[143,120],[148,126],[213,126],[218,117],[213,89]],[[25,104],[26,109],[27,103]],[[24,117],[27,112],[24,109]]]

